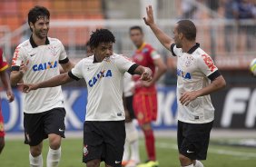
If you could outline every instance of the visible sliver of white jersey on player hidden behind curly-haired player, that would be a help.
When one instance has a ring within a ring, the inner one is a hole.
[[[133,95],[135,83],[133,81],[132,74],[125,73],[123,78],[123,95],[124,97],[129,97]]]

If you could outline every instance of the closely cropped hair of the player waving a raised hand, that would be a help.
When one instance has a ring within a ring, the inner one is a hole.
[[[181,20],[177,26],[178,33],[184,34],[189,41],[193,41],[196,38],[196,27],[191,20]]]

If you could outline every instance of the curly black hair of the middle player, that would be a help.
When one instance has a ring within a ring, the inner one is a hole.
[[[100,43],[115,43],[115,38],[108,29],[96,29],[90,37],[91,48],[97,47]]]

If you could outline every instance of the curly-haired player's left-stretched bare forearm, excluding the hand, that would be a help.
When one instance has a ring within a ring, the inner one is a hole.
[[[71,81],[73,81],[73,79],[70,78],[67,73],[59,74],[44,82],[36,83],[36,87],[37,88],[55,87],[55,86],[63,85],[64,83],[69,83]]]

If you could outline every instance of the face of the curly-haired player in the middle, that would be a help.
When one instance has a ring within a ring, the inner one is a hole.
[[[113,54],[113,43],[100,43],[93,50],[97,61],[103,61],[105,57],[109,57]]]

